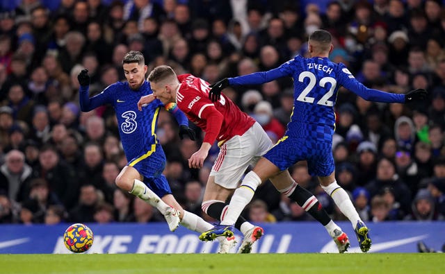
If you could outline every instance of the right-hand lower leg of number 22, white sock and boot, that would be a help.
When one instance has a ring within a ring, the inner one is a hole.
[[[327,176],[318,176],[318,180],[324,191],[332,197],[335,205],[339,207],[341,213],[343,213],[353,224],[360,249],[362,249],[363,252],[367,252],[369,248],[371,248],[369,230],[364,222],[360,219],[348,193],[346,193],[346,191],[337,184],[334,172]]]

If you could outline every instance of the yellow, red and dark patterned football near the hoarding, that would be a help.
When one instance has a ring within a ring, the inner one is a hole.
[[[63,242],[68,250],[81,253],[90,249],[92,246],[92,231],[88,226],[82,223],[74,223],[70,225],[63,234]]]

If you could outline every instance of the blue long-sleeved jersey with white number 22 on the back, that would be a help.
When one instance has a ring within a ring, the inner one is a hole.
[[[286,135],[326,141],[334,134],[334,105],[340,86],[369,101],[403,103],[405,94],[369,89],[359,83],[342,63],[329,58],[297,55],[276,69],[229,78],[231,85],[266,83],[283,76],[293,78],[294,100]]]

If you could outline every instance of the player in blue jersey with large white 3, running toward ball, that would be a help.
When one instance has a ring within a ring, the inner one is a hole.
[[[163,105],[156,100],[143,112],[138,112],[140,96],[152,94],[150,84],[145,80],[147,66],[142,53],[129,51],[122,60],[127,82],[118,82],[109,85],[103,92],[89,98],[88,89],[90,77],[88,71],[83,69],[78,76],[80,88],[79,97],[81,110],[88,112],[99,105],[113,105],[118,118],[118,129],[128,164],[116,178],[116,185],[129,193],[138,196],[145,202],[159,209],[171,231],[176,230],[179,223],[184,227],[205,232],[213,225],[207,223],[199,216],[187,212],[172,196],[167,179],[162,174],[165,167],[165,154],[156,137],[156,123],[161,108],[170,111],[180,125],[179,137],[188,135],[195,139],[191,128],[188,128],[188,119],[177,108],[175,103]],[[220,252],[227,253],[232,243],[220,237]]]

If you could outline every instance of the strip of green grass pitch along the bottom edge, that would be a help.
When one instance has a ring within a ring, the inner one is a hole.
[[[0,255],[0,273],[444,273],[442,253]]]

